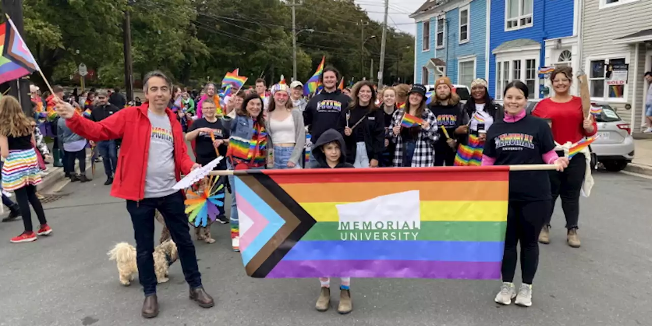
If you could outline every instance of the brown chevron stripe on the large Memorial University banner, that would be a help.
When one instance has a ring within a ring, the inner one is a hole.
[[[276,196],[269,192],[265,186],[261,185],[253,175],[237,175],[236,177],[240,178],[240,180],[251,188],[251,190],[253,190],[261,200],[265,201],[265,203],[267,203],[267,205],[269,205],[278,216],[286,221],[280,230],[274,233],[273,237],[271,237],[271,239],[269,239],[269,241],[267,241],[267,243],[256,252],[256,255],[254,255],[254,257],[244,267],[246,274],[252,276],[258,268],[263,265],[267,258],[273,254],[274,250],[285,241],[289,234],[299,226],[300,221],[299,218],[288,209],[288,207],[278,201]],[[235,191],[238,191],[237,188],[235,188]]]

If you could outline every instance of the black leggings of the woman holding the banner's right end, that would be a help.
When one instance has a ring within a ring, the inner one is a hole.
[[[509,201],[505,254],[503,255],[503,282],[514,282],[516,271],[516,244],[521,245],[521,274],[523,283],[532,284],[539,265],[539,233],[550,211],[550,201]]]

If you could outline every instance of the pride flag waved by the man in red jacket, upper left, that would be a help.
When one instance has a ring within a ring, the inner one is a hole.
[[[0,83],[17,80],[40,71],[36,59],[29,52],[27,44],[9,16],[7,16],[7,22],[0,24],[0,45],[2,46]]]

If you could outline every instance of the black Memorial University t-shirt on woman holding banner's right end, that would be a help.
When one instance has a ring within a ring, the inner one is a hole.
[[[484,155],[496,158],[494,165],[544,164],[542,155],[555,148],[550,126],[543,119],[526,115],[514,123],[498,121],[487,132]],[[509,173],[509,200],[550,200],[548,171]]]

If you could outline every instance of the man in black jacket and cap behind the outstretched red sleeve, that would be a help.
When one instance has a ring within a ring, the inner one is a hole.
[[[96,105],[91,110],[91,116],[89,117],[92,121],[100,122],[120,110],[119,107],[110,104],[108,100],[109,95],[107,91],[99,91],[97,93]],[[91,141],[91,145],[93,144],[93,141]],[[104,164],[104,173],[106,173],[106,182],[104,185],[111,185],[113,183],[115,169],[118,166],[118,150],[116,141],[98,141],[95,146],[100,152],[102,163]]]

